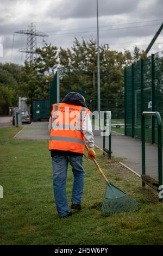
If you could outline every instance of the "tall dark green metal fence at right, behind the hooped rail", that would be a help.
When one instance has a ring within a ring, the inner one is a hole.
[[[143,111],[158,111],[163,118],[163,57],[152,54],[125,68],[124,83],[125,135],[141,139]],[[146,117],[145,138],[148,142],[158,143],[154,117]]]

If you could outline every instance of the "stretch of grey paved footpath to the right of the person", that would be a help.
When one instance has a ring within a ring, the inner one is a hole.
[[[103,148],[103,139],[95,131],[95,144]],[[112,155],[122,157],[120,160],[136,173],[141,174],[141,141],[140,139],[124,136],[112,131]],[[109,148],[109,139],[106,137],[105,148]],[[163,155],[163,150],[162,150]],[[158,147],[146,143],[146,174],[158,178]]]

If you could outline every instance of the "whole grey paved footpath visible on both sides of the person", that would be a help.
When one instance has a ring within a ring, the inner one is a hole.
[[[49,139],[48,122],[34,122],[26,125],[15,137],[18,139]],[[94,137],[95,144],[102,148],[101,133],[94,131]],[[106,137],[105,148],[109,148],[108,141]],[[122,163],[141,174],[141,141],[139,139],[112,132],[112,155],[121,157]],[[146,174],[158,178],[158,148],[157,145],[149,143],[146,143]]]

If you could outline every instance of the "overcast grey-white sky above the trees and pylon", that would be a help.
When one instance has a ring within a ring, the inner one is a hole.
[[[74,37],[97,38],[96,0],[0,0],[0,62],[23,64],[27,35],[13,34],[27,29],[33,22],[36,30],[45,32],[47,43],[71,47]],[[163,0],[98,0],[99,43],[111,50],[132,50],[134,45],[146,50],[162,23]],[[37,37],[37,46],[42,38]],[[163,31],[155,41],[155,53],[163,47]]]

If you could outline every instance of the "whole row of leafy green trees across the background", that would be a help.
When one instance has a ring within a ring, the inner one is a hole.
[[[122,113],[124,104],[124,66],[145,58],[146,53],[134,47],[124,53],[99,47],[101,64],[101,106],[102,110]],[[60,64],[61,99],[70,91],[85,94],[87,105],[97,109],[97,42],[74,39],[70,48],[44,45],[36,49],[34,63],[19,66],[13,63],[0,64],[0,83],[3,95],[9,93],[10,102],[15,95],[25,96],[28,102],[34,99],[49,99],[55,69]],[[6,89],[8,88],[8,89]],[[6,105],[7,106],[7,105]]]

